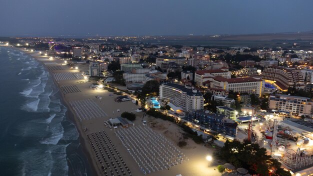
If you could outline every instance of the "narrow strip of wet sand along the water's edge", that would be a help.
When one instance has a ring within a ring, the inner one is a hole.
[[[55,84],[55,86],[58,88],[58,92],[59,95],[60,95],[60,101],[63,103],[63,105],[66,106],[67,110],[66,110],[66,113],[65,113],[65,116],[70,120],[72,121],[74,124],[75,124],[75,127],[77,129],[77,132],[78,132],[78,137],[79,137],[79,143],[81,145],[81,148],[82,148],[82,151],[83,151],[83,154],[85,155],[85,157],[87,158],[87,163],[89,166],[90,166],[90,172],[91,172],[91,175],[99,175],[99,172],[98,172],[98,169],[97,169],[97,166],[96,166],[96,163],[93,161],[92,159],[92,155],[91,153],[88,151],[88,145],[87,145],[87,140],[85,139],[85,136],[84,135],[84,131],[83,131],[83,128],[82,128],[82,124],[79,123],[79,121],[77,121],[77,117],[72,109],[72,107],[69,105],[68,101],[66,100],[65,96],[64,96],[64,93],[62,93],[62,90],[60,88],[60,84],[55,80],[55,77],[53,76],[52,74],[52,71],[49,70],[47,68],[47,65],[44,64],[44,62],[40,59],[38,59],[38,55],[35,55],[35,54],[31,54],[30,52],[26,52],[25,50],[23,50],[22,48],[19,48],[19,47],[15,47],[15,46],[11,46],[13,47],[14,49],[16,50],[19,50],[27,55],[30,55],[32,58],[36,59],[36,61],[38,61],[40,64],[42,64],[44,66],[44,68],[50,73],[51,77],[52,77],[52,80]],[[90,150],[90,149],[89,149]],[[68,163],[68,160],[67,160],[67,163]],[[68,170],[70,171],[70,170]]]

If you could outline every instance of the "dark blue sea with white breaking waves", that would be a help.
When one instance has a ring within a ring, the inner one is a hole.
[[[46,68],[0,46],[0,175],[92,175]]]

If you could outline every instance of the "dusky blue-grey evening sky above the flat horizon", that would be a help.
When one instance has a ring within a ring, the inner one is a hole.
[[[313,0],[0,0],[0,36],[313,30]]]

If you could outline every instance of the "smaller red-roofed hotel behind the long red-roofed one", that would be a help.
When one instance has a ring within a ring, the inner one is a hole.
[[[215,76],[222,76],[225,78],[231,77],[231,72],[222,69],[202,69],[194,72],[194,81],[198,86],[203,86],[203,82],[212,80]]]

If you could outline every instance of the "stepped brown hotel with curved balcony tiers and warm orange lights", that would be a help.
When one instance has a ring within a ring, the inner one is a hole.
[[[291,86],[304,85],[304,79],[299,69],[283,66],[268,66],[262,72],[262,78],[275,81],[274,83],[282,90]]]

